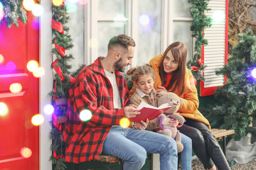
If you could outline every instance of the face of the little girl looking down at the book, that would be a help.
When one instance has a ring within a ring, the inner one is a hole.
[[[134,83],[144,94],[149,95],[154,88],[154,78],[149,74],[144,74],[138,77],[138,81]]]

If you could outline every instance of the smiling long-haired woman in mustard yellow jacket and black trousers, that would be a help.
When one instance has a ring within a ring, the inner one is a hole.
[[[150,60],[149,64],[156,73],[154,88],[159,91],[170,91],[183,98],[178,112],[186,119],[181,133],[191,137],[193,151],[201,160],[205,169],[230,169],[225,155],[210,132],[210,123],[197,110],[199,106],[198,93],[193,75],[186,67],[186,45],[174,42],[166,48],[164,54]],[[132,94],[134,89],[130,91]]]

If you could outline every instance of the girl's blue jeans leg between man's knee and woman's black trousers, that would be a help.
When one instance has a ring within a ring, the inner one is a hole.
[[[181,143],[183,151],[181,152],[181,166],[182,170],[191,170],[192,163],[192,140],[190,137],[181,133]]]

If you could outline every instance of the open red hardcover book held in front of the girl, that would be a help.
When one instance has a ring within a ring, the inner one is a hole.
[[[140,123],[141,120],[146,121],[146,118],[148,118],[149,120],[153,120],[157,116],[161,115],[161,113],[164,113],[169,108],[171,108],[171,106],[169,106],[169,103],[164,103],[156,108],[142,101],[142,103],[139,104],[138,108],[140,114],[134,118],[129,118],[130,122]]]

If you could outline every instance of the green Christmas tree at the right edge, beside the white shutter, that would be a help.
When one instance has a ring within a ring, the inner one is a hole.
[[[214,93],[221,104],[213,107],[212,114],[223,118],[220,128],[235,130],[235,140],[247,135],[247,127],[256,116],[256,79],[251,76],[256,67],[256,37],[248,30],[239,34],[238,39],[228,64],[216,71],[217,75],[225,75],[228,81]]]

